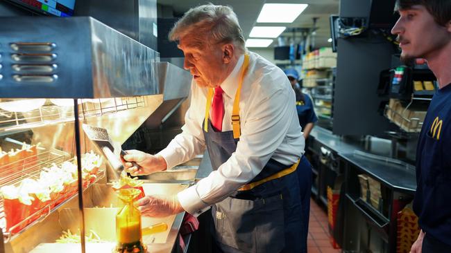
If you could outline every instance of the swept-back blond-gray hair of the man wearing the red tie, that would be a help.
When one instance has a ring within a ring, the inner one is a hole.
[[[193,43],[232,43],[244,53],[245,41],[238,18],[232,8],[206,4],[188,10],[169,32],[170,41],[193,35]]]

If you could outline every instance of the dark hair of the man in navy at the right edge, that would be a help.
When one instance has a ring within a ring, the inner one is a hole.
[[[412,6],[425,6],[436,23],[441,26],[451,21],[450,0],[396,0],[395,11],[409,10]]]

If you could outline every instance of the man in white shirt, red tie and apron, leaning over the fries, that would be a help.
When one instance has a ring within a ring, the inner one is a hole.
[[[306,252],[312,175],[284,72],[246,50],[227,6],[192,8],[169,39],[193,75],[185,125],[155,156],[128,151],[124,159],[139,167],[126,168],[151,174],[207,149],[213,171],[176,196],[142,198],[142,213],[198,216],[211,207],[215,252]]]

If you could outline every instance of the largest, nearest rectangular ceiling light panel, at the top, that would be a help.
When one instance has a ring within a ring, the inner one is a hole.
[[[307,6],[306,3],[265,3],[257,23],[292,23]]]

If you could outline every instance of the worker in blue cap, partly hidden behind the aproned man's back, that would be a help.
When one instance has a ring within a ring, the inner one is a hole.
[[[296,94],[296,111],[298,111],[298,119],[300,127],[303,129],[304,138],[307,140],[310,131],[312,131],[315,122],[318,121],[316,117],[313,102],[309,95],[302,92],[302,86],[299,84],[299,74],[294,68],[287,68],[285,71],[291,87],[293,87]]]

